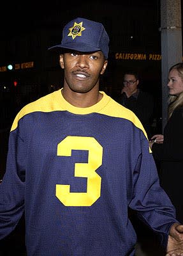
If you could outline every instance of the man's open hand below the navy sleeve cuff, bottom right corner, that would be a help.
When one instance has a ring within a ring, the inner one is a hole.
[[[183,256],[183,225],[174,223],[170,228],[165,256]]]

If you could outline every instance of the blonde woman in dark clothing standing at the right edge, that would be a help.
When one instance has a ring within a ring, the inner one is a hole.
[[[183,63],[173,65],[168,75],[168,122],[164,134],[149,141],[154,159],[160,161],[161,186],[175,205],[177,219],[183,221]]]

